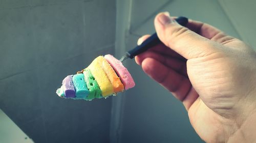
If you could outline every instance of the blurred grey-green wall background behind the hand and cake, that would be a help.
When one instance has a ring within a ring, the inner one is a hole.
[[[157,13],[220,28],[256,48],[256,1],[0,0],[0,142],[203,142],[183,105],[123,64],[136,87],[107,99],[61,99],[66,75],[98,55],[120,58],[154,33]]]

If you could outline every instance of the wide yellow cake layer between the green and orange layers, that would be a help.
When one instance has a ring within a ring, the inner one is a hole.
[[[113,85],[111,84],[108,76],[106,75],[103,69],[103,61],[105,59],[103,56],[98,56],[93,62],[89,65],[89,69],[91,70],[92,75],[96,79],[99,84],[99,88],[102,92],[102,96],[106,97],[114,93]]]

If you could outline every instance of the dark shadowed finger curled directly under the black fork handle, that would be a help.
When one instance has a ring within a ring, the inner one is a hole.
[[[135,56],[135,61],[138,65],[141,65],[142,61],[144,61],[146,58],[152,58],[164,66],[171,68],[175,70],[176,72],[180,73],[181,75],[188,77],[187,76],[187,69],[186,69],[186,62],[181,61],[176,58],[172,58],[169,56],[165,56],[162,54],[159,54],[154,51],[146,51],[144,53],[141,53],[137,56]]]

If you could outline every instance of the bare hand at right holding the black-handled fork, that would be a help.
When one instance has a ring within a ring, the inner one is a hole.
[[[155,18],[159,44],[135,57],[143,71],[183,102],[206,142],[256,139],[256,53],[217,28],[168,13]],[[142,43],[149,35],[138,40]]]

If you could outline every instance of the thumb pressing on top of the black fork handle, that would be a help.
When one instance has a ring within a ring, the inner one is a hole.
[[[206,56],[216,51],[216,43],[181,26],[167,12],[156,16],[155,27],[159,39],[186,59]]]

